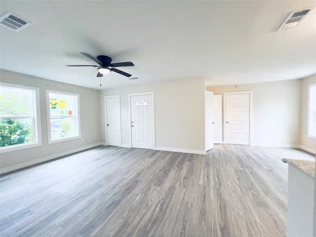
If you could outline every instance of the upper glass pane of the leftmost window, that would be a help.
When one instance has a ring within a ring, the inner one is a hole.
[[[33,90],[0,86],[0,116],[33,116]]]

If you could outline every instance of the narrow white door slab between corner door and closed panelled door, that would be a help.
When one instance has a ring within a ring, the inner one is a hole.
[[[222,95],[214,95],[213,105],[213,134],[214,144],[223,144],[223,109]]]

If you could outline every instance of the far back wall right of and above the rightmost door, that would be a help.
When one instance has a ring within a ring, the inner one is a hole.
[[[293,147],[300,145],[301,79],[207,87],[215,95],[253,91],[253,144]]]

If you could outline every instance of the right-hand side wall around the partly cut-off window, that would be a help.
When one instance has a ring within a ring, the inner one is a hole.
[[[316,139],[307,136],[308,124],[308,86],[316,83],[316,75],[302,79],[301,101],[301,145],[316,150]]]

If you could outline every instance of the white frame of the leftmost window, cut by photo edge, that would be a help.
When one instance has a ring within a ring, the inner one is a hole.
[[[34,112],[34,114],[32,116],[33,142],[12,145],[12,146],[7,146],[7,147],[0,147],[0,154],[41,146],[42,143],[41,143],[41,128],[40,128],[40,88],[26,86],[26,85],[5,83],[5,82],[0,82],[0,86],[32,90],[33,94],[35,95],[35,96],[33,96],[33,112]],[[6,117],[1,117],[1,118],[12,118],[12,117],[6,116]],[[29,117],[17,116],[14,118],[29,118]]]

